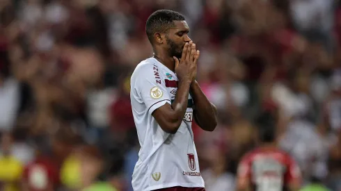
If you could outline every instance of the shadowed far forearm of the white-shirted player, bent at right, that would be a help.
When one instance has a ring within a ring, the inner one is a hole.
[[[216,128],[216,107],[209,102],[198,82],[191,83],[190,92],[195,105],[194,117],[197,124],[205,131],[213,131]]]

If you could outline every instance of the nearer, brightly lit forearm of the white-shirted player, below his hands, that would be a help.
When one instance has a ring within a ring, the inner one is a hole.
[[[179,127],[182,123],[182,119],[184,118],[184,113],[186,113],[187,110],[187,103],[188,103],[188,97],[189,97],[189,87],[191,85],[191,81],[179,81],[178,87],[177,87],[177,93],[175,94],[175,99],[172,103],[172,108],[175,113],[175,120],[176,120],[176,126]]]

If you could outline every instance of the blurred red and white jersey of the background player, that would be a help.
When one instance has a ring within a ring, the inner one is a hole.
[[[255,149],[239,163],[238,183],[248,179],[251,190],[283,191],[292,182],[301,181],[301,172],[292,157],[279,149]]]

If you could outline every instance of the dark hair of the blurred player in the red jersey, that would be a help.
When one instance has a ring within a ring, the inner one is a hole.
[[[276,117],[273,113],[261,113],[255,120],[258,137],[261,142],[271,143],[276,140]]]

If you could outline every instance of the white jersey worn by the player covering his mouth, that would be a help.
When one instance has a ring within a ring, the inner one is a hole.
[[[141,145],[132,176],[132,186],[136,191],[173,186],[205,187],[191,128],[191,95],[177,133],[163,131],[152,116],[157,108],[171,104],[176,92],[177,76],[155,58],[143,60],[132,74],[130,98]]]

